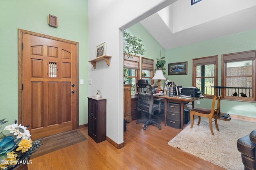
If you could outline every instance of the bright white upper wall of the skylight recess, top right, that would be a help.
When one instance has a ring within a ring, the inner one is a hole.
[[[178,0],[172,4],[170,23],[173,22],[173,33],[176,33],[255,5],[255,0],[202,0],[191,6],[191,0]]]

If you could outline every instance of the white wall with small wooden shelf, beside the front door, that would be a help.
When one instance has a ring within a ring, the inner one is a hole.
[[[107,99],[107,136],[117,144],[123,138],[123,34],[122,30],[172,4],[176,0],[88,0],[89,60],[95,58],[96,46],[106,42],[105,61],[89,64],[89,96],[100,90]],[[121,30],[120,30],[121,29]],[[81,48],[81,47],[80,47]]]

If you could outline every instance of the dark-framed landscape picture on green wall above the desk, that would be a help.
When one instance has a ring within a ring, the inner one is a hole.
[[[188,74],[188,62],[169,63],[168,75],[186,75]]]

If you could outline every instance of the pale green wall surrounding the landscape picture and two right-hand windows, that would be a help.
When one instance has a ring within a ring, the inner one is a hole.
[[[210,33],[210,32],[209,32]],[[256,29],[236,33],[208,41],[202,41],[191,45],[186,45],[174,49],[166,50],[166,69],[168,63],[188,61],[188,75],[168,76],[169,80],[183,87],[192,86],[192,59],[218,55],[218,86],[221,86],[221,55],[249,51],[256,49]],[[212,100],[201,99],[200,105],[195,107],[210,108]],[[256,117],[256,103],[234,102],[228,100],[221,101],[220,111],[234,115]]]

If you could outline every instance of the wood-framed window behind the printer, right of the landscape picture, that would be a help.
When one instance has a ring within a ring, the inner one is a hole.
[[[213,98],[218,96],[218,56],[192,59],[193,73],[192,86],[197,87],[206,96]]]

